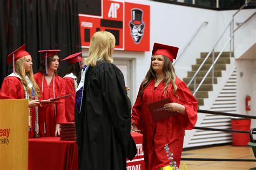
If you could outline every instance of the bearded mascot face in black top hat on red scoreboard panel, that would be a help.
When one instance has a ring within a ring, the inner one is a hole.
[[[140,9],[132,9],[132,20],[130,21],[131,36],[136,44],[139,44],[143,37],[145,24],[142,21],[143,11]]]

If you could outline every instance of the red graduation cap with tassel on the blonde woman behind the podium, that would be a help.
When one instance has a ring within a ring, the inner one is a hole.
[[[26,44],[23,44],[22,46],[18,47],[14,52],[10,53],[7,56],[7,64],[12,62],[12,69],[15,72],[15,61],[22,58],[23,56],[30,55],[28,52],[25,51]]]

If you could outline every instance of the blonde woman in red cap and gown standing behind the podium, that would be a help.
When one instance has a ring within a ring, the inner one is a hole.
[[[32,58],[22,45],[8,55],[7,64],[13,63],[14,72],[5,77],[0,98],[26,98],[29,100],[29,138],[38,137],[38,98],[40,90],[33,78]]]

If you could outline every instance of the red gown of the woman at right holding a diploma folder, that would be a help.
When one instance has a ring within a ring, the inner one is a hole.
[[[143,131],[143,148],[145,158],[145,169],[153,170],[169,165],[164,146],[169,145],[173,158],[179,167],[183,139],[186,130],[191,130],[197,122],[197,100],[193,97],[186,84],[178,77],[176,79],[179,99],[173,94],[172,83],[169,84],[167,94],[164,94],[164,83],[161,82],[154,90],[154,80],[144,89],[143,96],[140,92],[136,103],[132,108],[132,122],[138,129]],[[170,97],[172,102],[183,104],[186,108],[186,115],[181,114],[168,117],[160,121],[154,121],[146,106],[146,103],[158,101]]]

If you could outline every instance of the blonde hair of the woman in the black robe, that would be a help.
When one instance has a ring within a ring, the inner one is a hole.
[[[107,31],[96,32],[93,34],[90,42],[89,56],[85,58],[83,64],[94,67],[96,66],[97,61],[102,61],[104,59],[107,62],[112,63],[112,54],[115,44],[116,39],[112,33]]]

